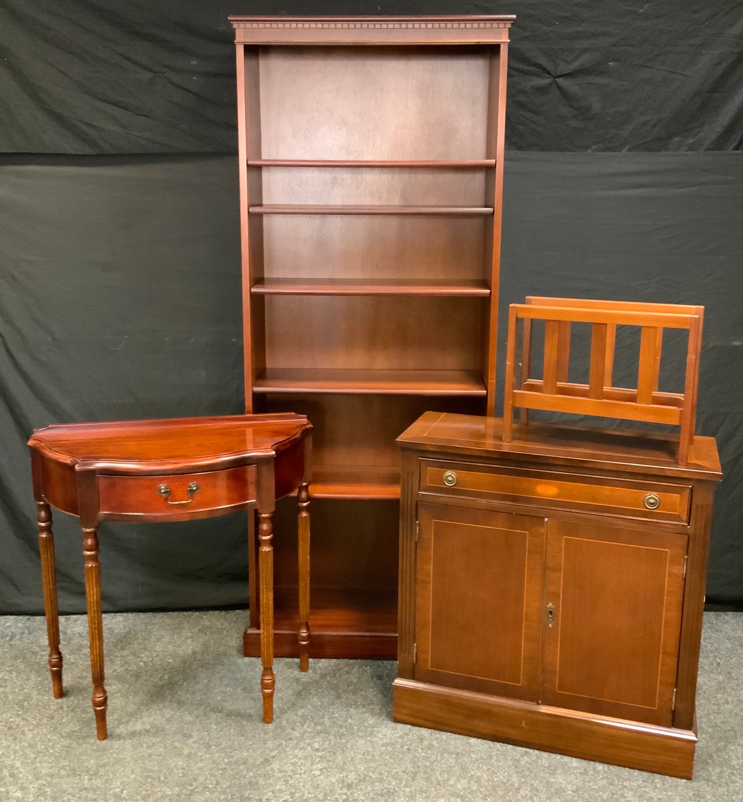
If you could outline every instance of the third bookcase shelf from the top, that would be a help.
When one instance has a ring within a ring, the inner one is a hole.
[[[262,278],[251,287],[254,295],[414,295],[452,298],[490,298],[481,278]]]

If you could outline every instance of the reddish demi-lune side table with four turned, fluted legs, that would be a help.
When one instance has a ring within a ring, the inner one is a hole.
[[[61,699],[62,653],[51,507],[80,518],[98,740],[107,737],[103,671],[102,520],[153,523],[227,515],[255,507],[259,525],[260,679],[263,721],[273,721],[273,512],[299,498],[299,668],[308,667],[311,424],[303,415],[71,423],[34,431],[29,440],[41,553],[49,667]]]

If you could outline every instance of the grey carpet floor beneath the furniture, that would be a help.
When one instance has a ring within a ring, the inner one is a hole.
[[[86,620],[62,618],[66,698],[54,700],[42,618],[0,618],[0,799],[743,799],[743,614],[708,613],[693,782],[392,722],[392,662],[276,665],[260,722],[245,614],[104,617],[109,739],[90,709]]]

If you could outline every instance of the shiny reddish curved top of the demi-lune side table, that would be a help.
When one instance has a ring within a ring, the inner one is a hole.
[[[28,444],[42,455],[86,467],[151,470],[236,457],[271,456],[311,430],[304,415],[221,415],[208,418],[62,423],[34,430]],[[218,467],[215,465],[215,467]]]

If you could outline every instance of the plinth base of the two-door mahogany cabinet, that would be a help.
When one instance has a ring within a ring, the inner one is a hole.
[[[398,678],[392,718],[434,730],[691,780],[697,735]]]

